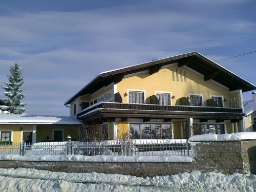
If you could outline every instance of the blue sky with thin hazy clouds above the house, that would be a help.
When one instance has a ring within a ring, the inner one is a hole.
[[[17,60],[27,113],[69,115],[63,103],[102,71],[191,51],[219,60],[256,50],[255,8],[254,0],[1,0],[0,85]],[[255,60],[219,64],[256,84]]]

